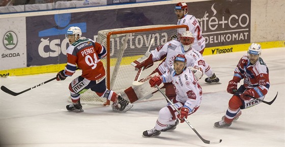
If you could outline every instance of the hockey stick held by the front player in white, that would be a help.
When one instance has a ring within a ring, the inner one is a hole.
[[[174,105],[174,103],[168,99],[168,97],[165,95],[165,93],[157,86],[155,85],[155,87],[159,90],[159,92],[166,98],[166,100],[176,109],[176,111],[180,114],[180,111],[178,110],[178,108]],[[190,126],[190,128],[198,135],[198,137],[207,144],[217,144],[220,143],[222,141],[222,139],[220,140],[215,140],[215,141],[210,141],[210,140],[206,140],[204,139],[197,131],[196,129],[190,124],[190,122],[184,118],[185,122]]]

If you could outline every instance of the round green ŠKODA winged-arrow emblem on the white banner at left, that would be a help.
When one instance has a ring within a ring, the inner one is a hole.
[[[8,31],[3,37],[3,44],[7,50],[13,50],[18,43],[17,34],[14,31]]]

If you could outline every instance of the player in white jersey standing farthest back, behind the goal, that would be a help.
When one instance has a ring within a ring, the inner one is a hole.
[[[177,25],[187,25],[189,27],[189,31],[192,32],[194,35],[194,43],[192,45],[192,49],[200,52],[203,55],[204,49],[205,49],[205,38],[202,35],[202,28],[195,18],[195,16],[187,14],[188,8],[187,4],[177,3],[175,7],[175,14],[177,15],[178,22]],[[180,36],[183,33],[184,30],[179,29],[178,30],[178,36]],[[179,37],[178,37],[179,40]],[[205,82],[207,83],[213,83],[213,84],[220,84],[219,78],[216,77],[215,73],[213,72],[210,65],[206,62],[206,70],[205,75],[208,76],[208,78],[205,79]]]

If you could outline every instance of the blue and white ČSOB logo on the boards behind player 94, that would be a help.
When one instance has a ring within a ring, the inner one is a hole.
[[[49,41],[49,38],[43,39],[44,36],[55,36],[55,35],[62,35],[66,34],[67,29],[71,26],[78,26],[82,32],[86,32],[87,25],[86,22],[82,23],[72,23],[69,24],[71,20],[71,14],[56,14],[54,15],[55,23],[61,27],[62,29],[58,28],[49,28],[42,31],[39,31],[39,37],[41,37],[41,42],[38,47],[39,55],[43,58],[47,57],[57,57],[61,53],[66,55],[67,44],[69,44],[68,39],[64,39],[62,42],[60,39],[55,39]],[[44,50],[45,46],[49,46],[50,51]]]

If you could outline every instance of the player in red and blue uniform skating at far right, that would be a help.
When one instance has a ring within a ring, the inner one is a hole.
[[[262,102],[269,90],[269,70],[260,57],[261,45],[251,44],[240,60],[234,71],[234,78],[227,86],[227,92],[234,94],[229,101],[225,116],[216,122],[214,127],[222,128],[231,126],[233,120],[241,115],[241,109],[257,105]],[[243,85],[237,89],[238,83],[244,79]],[[239,94],[242,93],[242,94]],[[252,96],[258,99],[248,97]]]

